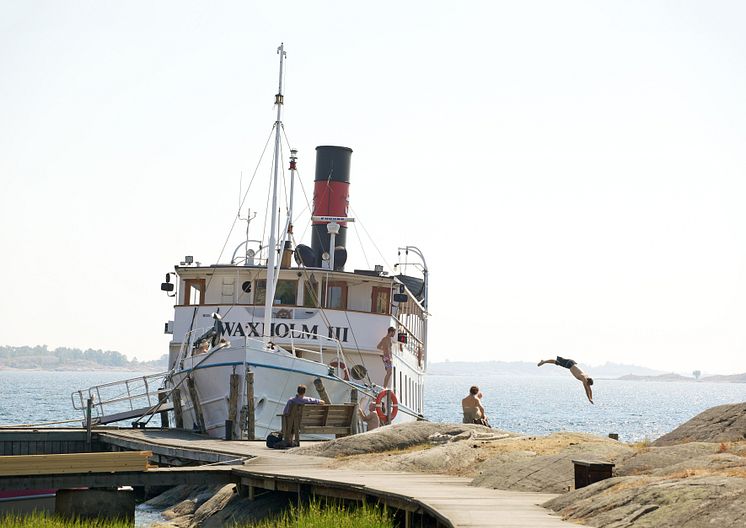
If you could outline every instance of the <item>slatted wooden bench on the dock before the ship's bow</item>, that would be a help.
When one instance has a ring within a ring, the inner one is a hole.
[[[282,439],[288,446],[298,445],[301,434],[333,434],[336,438],[352,434],[354,403],[293,404],[282,415]]]

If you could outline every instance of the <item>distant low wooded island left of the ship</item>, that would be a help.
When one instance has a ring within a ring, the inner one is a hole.
[[[120,352],[41,346],[0,346],[0,370],[165,370],[168,356],[152,361],[128,359]]]

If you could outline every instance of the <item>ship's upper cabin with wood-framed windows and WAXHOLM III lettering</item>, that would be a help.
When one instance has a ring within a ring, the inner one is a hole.
[[[223,337],[234,345],[264,335],[267,270],[264,266],[211,265],[184,262],[175,268],[171,356],[184,336],[212,325],[212,313],[223,321]],[[165,284],[165,283],[164,283]],[[414,290],[414,292],[413,292]],[[376,345],[389,327],[396,329],[406,363],[424,370],[426,318],[423,281],[389,276],[382,267],[353,272],[322,268],[280,269],[272,307],[270,336],[280,346],[303,343],[313,348],[312,334],[339,340],[345,353],[378,353]]]

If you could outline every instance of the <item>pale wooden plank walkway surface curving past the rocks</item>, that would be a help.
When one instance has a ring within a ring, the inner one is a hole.
[[[556,528],[577,526],[562,521],[539,504],[556,495],[469,486],[471,479],[390,471],[328,468],[329,459],[268,449],[263,442],[207,439],[179,431],[120,430],[99,433],[105,443],[131,449],[216,453],[251,457],[233,473],[243,485],[292,491],[309,487],[333,496],[374,496],[410,511],[428,511],[446,526],[464,528]],[[335,495],[335,490],[337,494]]]

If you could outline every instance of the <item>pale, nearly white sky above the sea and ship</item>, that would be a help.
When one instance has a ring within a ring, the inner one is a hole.
[[[744,20],[739,1],[0,0],[0,345],[166,353],[159,285],[218,259],[285,42],[304,186],[317,145],[354,150],[383,256],[351,243],[347,269],[423,250],[432,361],[744,372]]]

